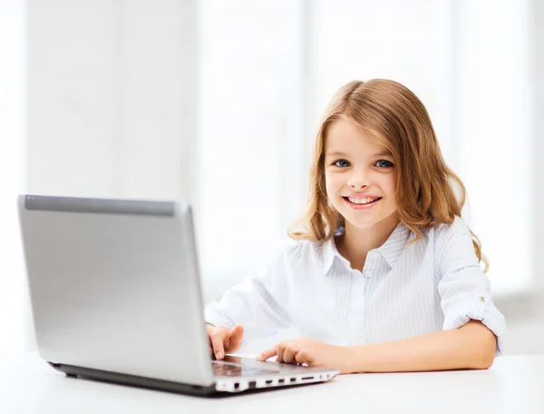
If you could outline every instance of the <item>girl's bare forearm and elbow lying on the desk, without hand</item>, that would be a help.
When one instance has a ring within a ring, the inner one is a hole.
[[[351,347],[352,372],[487,369],[497,339],[479,320],[456,330],[440,330],[394,342]]]

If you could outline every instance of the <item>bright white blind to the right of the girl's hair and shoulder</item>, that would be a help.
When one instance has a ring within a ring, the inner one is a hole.
[[[473,230],[491,261],[491,286],[505,294],[523,291],[535,271],[529,2],[457,6],[457,167]]]

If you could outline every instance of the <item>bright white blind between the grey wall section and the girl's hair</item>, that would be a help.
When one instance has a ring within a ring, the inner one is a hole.
[[[298,59],[295,5],[199,3],[195,217],[205,277],[241,278],[262,265],[305,199],[286,196],[306,168],[292,159],[302,137],[290,133],[288,112],[298,99],[287,88]]]

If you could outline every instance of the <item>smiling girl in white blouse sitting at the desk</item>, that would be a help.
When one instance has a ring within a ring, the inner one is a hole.
[[[489,368],[504,317],[464,202],[422,102],[389,80],[346,84],[317,133],[295,242],[205,310],[216,358],[239,349],[243,327],[295,326],[304,337],[259,360],[342,373]]]

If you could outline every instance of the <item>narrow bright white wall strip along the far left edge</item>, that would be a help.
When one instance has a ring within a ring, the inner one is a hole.
[[[28,309],[15,208],[24,189],[25,13],[24,2],[0,0],[0,349],[23,346]]]

